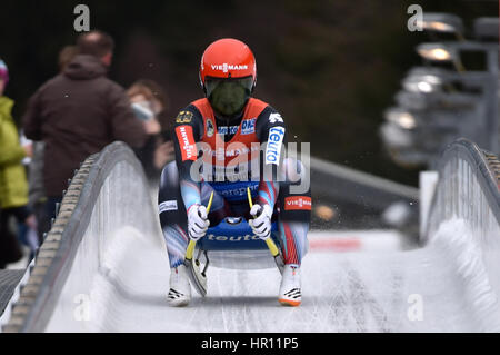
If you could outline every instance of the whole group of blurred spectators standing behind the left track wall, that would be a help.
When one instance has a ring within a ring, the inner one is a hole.
[[[102,31],[80,34],[59,52],[59,72],[30,98],[17,127],[4,96],[0,59],[0,268],[30,260],[56,218],[63,190],[83,160],[116,140],[127,142],[151,184],[173,160],[167,95],[153,80],[129,88],[107,78],[114,41]]]

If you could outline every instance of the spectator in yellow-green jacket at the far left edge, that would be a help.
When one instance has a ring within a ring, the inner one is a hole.
[[[9,71],[0,60],[0,268],[22,257],[18,239],[9,229],[10,218],[16,217],[31,230],[37,229],[37,220],[28,208],[28,181],[21,164],[32,152],[30,146],[21,147],[19,142],[18,129],[11,115],[14,102],[3,96],[8,81]],[[37,247],[34,245],[31,252]]]

